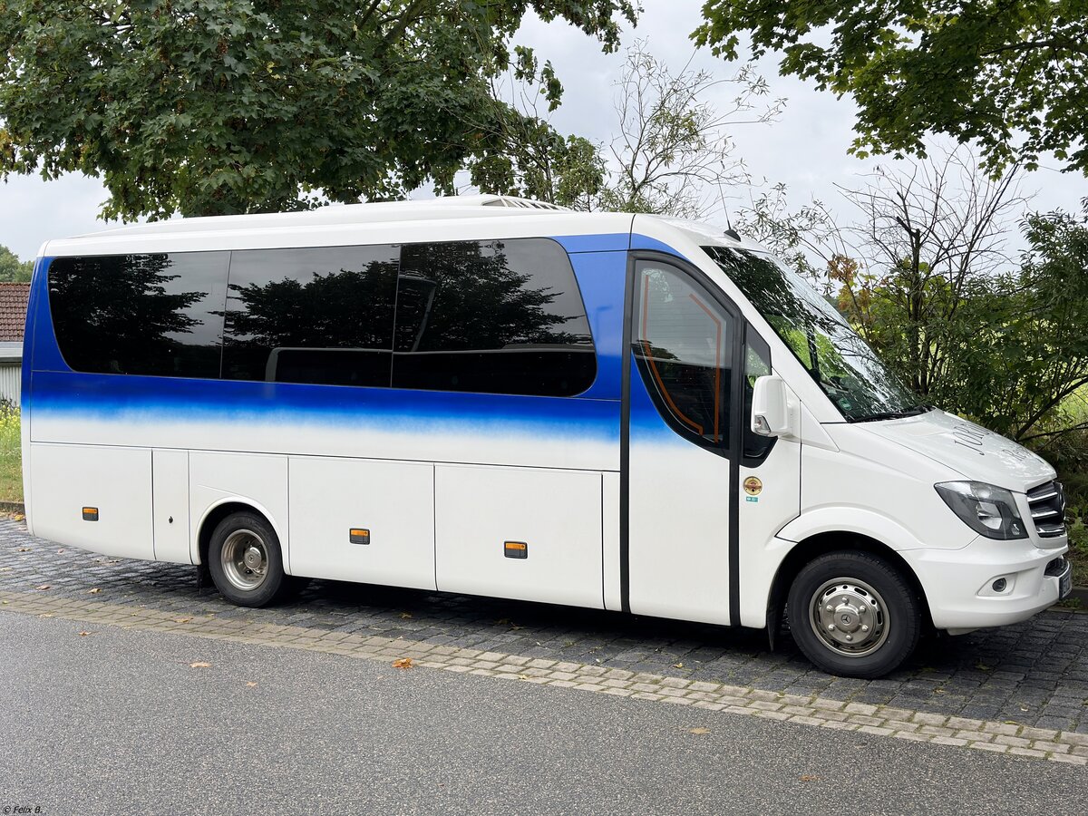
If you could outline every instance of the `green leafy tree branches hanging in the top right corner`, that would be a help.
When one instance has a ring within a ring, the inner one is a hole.
[[[1088,172],[1085,0],[707,0],[693,35],[737,59],[782,52],[783,74],[858,106],[853,152],[925,156],[927,132],[977,140],[993,174],[1053,151]]]

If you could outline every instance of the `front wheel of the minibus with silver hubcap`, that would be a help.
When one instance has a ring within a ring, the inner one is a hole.
[[[922,632],[922,601],[902,573],[868,553],[837,552],[793,579],[790,633],[831,675],[874,680],[910,657]]]

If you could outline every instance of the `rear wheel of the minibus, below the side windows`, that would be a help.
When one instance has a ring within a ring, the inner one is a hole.
[[[220,594],[238,606],[268,606],[288,585],[280,536],[256,512],[219,522],[208,546],[208,568]]]

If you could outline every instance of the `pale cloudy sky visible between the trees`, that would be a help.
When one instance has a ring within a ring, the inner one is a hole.
[[[643,0],[643,4],[646,9],[639,26],[626,33],[626,44],[645,40],[647,51],[677,71],[691,60],[693,69],[715,75],[735,73],[737,65],[706,50],[696,52],[689,39],[701,20],[701,0]],[[569,26],[535,20],[527,21],[518,41],[533,46],[542,60],[551,59],[564,83],[564,104],[552,116],[555,127],[608,143],[617,126],[614,84],[621,74],[623,54],[603,54],[595,40]],[[756,181],[784,183],[792,209],[816,198],[848,222],[850,206],[834,185],[858,186],[858,176],[870,173],[877,163],[846,154],[853,139],[853,106],[808,83],[778,76],[774,55],[757,67],[770,84],[770,97],[786,98],[786,109],[774,124],[738,126],[731,134],[737,156]],[[726,107],[730,98],[725,86],[719,104]],[[894,164],[888,159],[879,162]],[[1052,164],[1027,176],[1023,190],[1035,195],[1033,209],[1078,210],[1079,199],[1088,196],[1088,180],[1059,173]],[[36,176],[13,176],[0,184],[0,244],[28,259],[49,238],[103,228],[107,224],[98,220],[98,210],[104,198],[101,184],[94,178],[70,175],[47,183]],[[740,189],[735,206],[750,199],[751,194]]]

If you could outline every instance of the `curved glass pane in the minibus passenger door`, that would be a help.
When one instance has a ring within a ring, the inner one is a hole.
[[[646,388],[681,435],[728,448],[733,319],[678,270],[636,269],[632,339]]]

